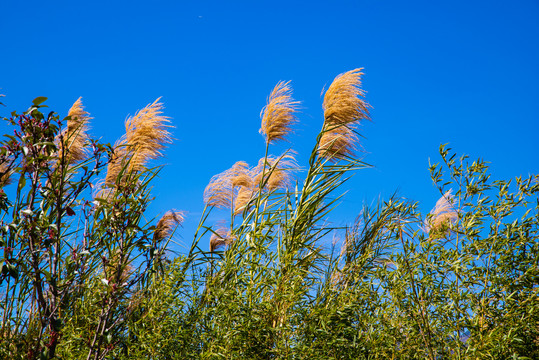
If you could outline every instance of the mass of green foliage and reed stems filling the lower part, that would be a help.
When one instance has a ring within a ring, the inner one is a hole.
[[[231,215],[224,250],[201,248],[207,207],[190,251],[165,259],[143,216],[156,171],[86,200],[110,148],[63,161],[43,101],[8,119],[0,153],[16,187],[0,198],[0,358],[539,357],[537,176],[491,180],[442,147],[431,174],[450,216],[393,196],[332,228],[342,184],[368,166],[320,157],[321,133],[295,189],[260,184]]]

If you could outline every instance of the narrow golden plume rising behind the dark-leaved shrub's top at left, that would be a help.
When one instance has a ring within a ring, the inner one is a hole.
[[[88,122],[92,118],[84,110],[81,99],[79,97],[69,109],[67,127],[57,136],[58,154],[62,156],[65,153],[68,164],[75,164],[87,157],[85,145],[88,141]]]

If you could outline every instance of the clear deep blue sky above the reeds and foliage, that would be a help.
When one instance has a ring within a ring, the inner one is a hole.
[[[303,107],[292,142],[274,152],[291,146],[305,165],[322,88],[357,67],[376,168],[349,183],[335,223],[395,190],[429,211],[439,193],[428,161],[441,143],[492,162],[498,178],[539,172],[536,0],[0,3],[3,115],[37,96],[66,115],[82,96],[92,134],[113,143],[129,114],[163,97],[177,140],[150,215],[189,211],[185,243],[211,176],[263,155],[259,112],[273,86],[291,80]]]

